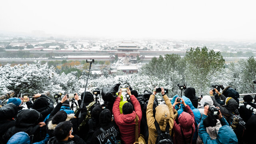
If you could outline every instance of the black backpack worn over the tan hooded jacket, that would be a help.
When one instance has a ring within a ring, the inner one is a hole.
[[[158,134],[156,138],[156,144],[173,144],[172,138],[169,134],[169,122],[167,122],[165,132],[162,132],[158,122],[155,120],[156,132]]]

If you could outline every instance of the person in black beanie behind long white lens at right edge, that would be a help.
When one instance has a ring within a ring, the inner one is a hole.
[[[250,105],[253,108],[256,108],[256,104],[252,103],[252,96],[251,95],[246,95],[244,96],[244,105],[240,106],[238,109],[238,112],[241,116],[241,118],[244,120],[244,122],[247,123],[248,119],[252,116],[252,111],[246,108],[246,105]]]

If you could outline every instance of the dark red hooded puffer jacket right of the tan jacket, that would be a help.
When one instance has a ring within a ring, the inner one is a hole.
[[[174,144],[192,144],[192,137],[196,130],[194,114],[188,105],[185,108],[187,112],[182,112],[178,118],[178,122],[180,124],[177,124],[176,121],[174,120]],[[182,128],[186,142],[184,142],[180,128]]]

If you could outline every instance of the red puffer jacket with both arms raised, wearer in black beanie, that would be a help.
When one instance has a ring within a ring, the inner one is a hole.
[[[139,101],[135,98],[134,95],[130,96],[134,110],[131,114],[120,114],[119,104],[120,98],[116,98],[113,105],[113,115],[116,125],[118,125],[121,139],[124,144],[133,144],[135,142],[135,118],[136,114],[139,118],[139,134],[140,134],[140,121],[142,118],[142,111],[140,108]]]

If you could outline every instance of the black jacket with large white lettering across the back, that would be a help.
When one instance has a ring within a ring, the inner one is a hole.
[[[115,124],[114,121],[110,122],[110,124],[105,124],[102,126],[106,133],[110,136],[116,138],[116,140],[120,140],[120,132],[118,126]],[[96,130],[92,135],[92,144],[105,144],[108,139],[104,136],[103,132],[100,129]]]

